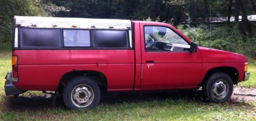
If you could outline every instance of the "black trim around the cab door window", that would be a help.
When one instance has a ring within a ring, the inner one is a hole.
[[[145,50],[145,52],[150,52],[150,53],[159,53],[159,52],[164,52],[164,53],[166,53],[166,52],[169,52],[169,53],[176,53],[176,52],[178,52],[178,53],[187,53],[187,52],[189,52],[190,53],[190,51],[147,51],[146,50],[146,38],[145,38],[145,27],[165,27],[165,28],[168,28],[168,29],[170,29],[170,30],[172,30],[174,33],[176,33],[177,35],[179,35],[184,41],[186,41],[189,45],[191,45],[191,43],[189,43],[184,37],[182,37],[179,33],[177,33],[176,31],[174,31],[172,28],[169,28],[168,26],[160,26],[160,25],[144,25],[143,26],[143,38],[144,38],[144,50]]]

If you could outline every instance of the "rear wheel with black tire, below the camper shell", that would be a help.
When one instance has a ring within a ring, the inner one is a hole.
[[[91,78],[75,77],[65,85],[62,95],[63,102],[68,108],[90,109],[99,103],[100,89]]]

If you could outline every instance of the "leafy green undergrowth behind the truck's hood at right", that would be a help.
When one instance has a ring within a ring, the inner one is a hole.
[[[255,31],[250,35],[243,35],[239,31],[238,25],[231,27],[227,25],[213,25],[211,29],[205,25],[198,27],[180,25],[177,28],[200,46],[239,53],[249,58],[256,58]]]

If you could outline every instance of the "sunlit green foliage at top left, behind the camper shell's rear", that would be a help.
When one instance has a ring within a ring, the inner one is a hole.
[[[13,16],[48,16],[41,0],[0,1],[0,10],[0,44],[11,42]]]

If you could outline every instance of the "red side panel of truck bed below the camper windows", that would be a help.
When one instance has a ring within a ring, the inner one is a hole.
[[[73,69],[102,72],[109,89],[133,89],[133,50],[16,50],[13,55],[18,55],[15,85],[21,90],[56,90]]]

